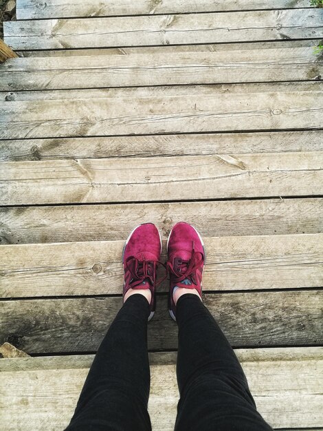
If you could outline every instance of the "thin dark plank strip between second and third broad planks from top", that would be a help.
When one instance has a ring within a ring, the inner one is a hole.
[[[161,54],[167,56],[174,52],[218,52],[236,50],[265,50],[276,48],[308,48],[318,44],[318,39],[291,40],[288,39],[270,42],[213,43],[208,45],[162,45],[137,46],[128,48],[92,48],[82,50],[47,50],[47,51],[17,51],[21,57],[60,57],[64,56],[99,56],[99,55],[126,55],[126,54]]]

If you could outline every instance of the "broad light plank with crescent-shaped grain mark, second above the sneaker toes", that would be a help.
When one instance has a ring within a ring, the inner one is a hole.
[[[1,162],[1,205],[320,194],[323,152]]]

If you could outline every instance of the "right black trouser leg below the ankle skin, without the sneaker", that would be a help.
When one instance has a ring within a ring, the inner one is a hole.
[[[269,431],[225,335],[198,296],[177,302],[180,401],[176,431]]]

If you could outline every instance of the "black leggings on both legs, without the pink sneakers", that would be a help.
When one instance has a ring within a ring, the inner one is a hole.
[[[71,430],[151,430],[147,300],[133,295],[111,324],[93,361]],[[229,342],[195,295],[177,302],[180,400],[176,431],[269,431],[256,411]]]

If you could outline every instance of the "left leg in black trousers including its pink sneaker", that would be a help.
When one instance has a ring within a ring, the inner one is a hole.
[[[155,311],[160,253],[154,224],[140,225],[126,240],[124,306],[102,341],[67,431],[151,430],[147,323]]]

